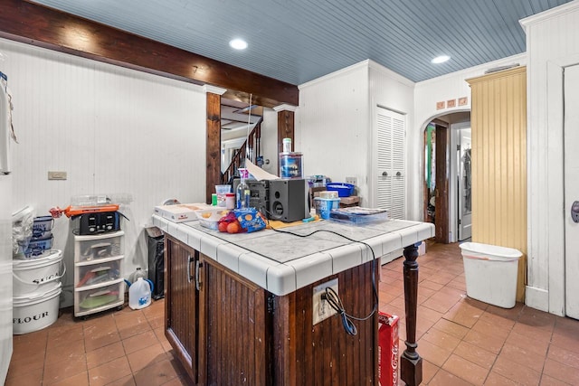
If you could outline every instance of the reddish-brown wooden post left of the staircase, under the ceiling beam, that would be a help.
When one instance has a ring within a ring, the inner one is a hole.
[[[221,184],[221,95],[207,93],[205,202],[211,203],[215,185]]]

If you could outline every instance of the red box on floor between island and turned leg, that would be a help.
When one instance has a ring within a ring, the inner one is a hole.
[[[397,315],[378,312],[378,381],[381,386],[396,386],[398,369],[398,320]]]

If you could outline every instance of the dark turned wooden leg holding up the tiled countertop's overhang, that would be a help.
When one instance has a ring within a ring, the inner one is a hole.
[[[416,309],[418,307],[418,245],[404,248],[404,305],[406,306],[406,350],[400,357],[401,379],[410,386],[422,382],[422,358],[416,353]]]

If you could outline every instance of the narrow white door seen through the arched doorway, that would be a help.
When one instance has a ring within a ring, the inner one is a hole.
[[[470,162],[470,128],[459,130],[458,170],[459,170],[459,241],[472,235],[472,168]]]

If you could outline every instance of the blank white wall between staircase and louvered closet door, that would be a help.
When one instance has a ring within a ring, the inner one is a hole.
[[[304,174],[333,182],[359,175],[359,194],[367,197],[369,125],[366,62],[299,85],[294,150],[303,153]]]

